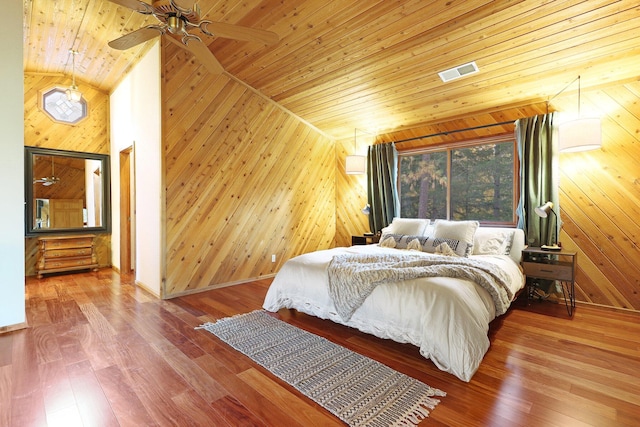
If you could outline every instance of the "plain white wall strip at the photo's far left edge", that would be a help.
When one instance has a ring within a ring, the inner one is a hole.
[[[0,327],[25,322],[24,292],[24,77],[22,1],[4,0],[0,25]]]

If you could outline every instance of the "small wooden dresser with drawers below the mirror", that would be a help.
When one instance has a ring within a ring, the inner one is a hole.
[[[93,234],[46,236],[38,238],[36,274],[74,270],[98,270]]]

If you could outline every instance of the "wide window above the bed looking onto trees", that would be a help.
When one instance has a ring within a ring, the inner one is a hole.
[[[400,214],[515,225],[517,154],[512,135],[398,155]]]

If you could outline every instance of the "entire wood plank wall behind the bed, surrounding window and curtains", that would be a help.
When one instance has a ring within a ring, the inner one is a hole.
[[[560,155],[560,241],[578,252],[576,299],[585,303],[640,310],[640,82],[614,84],[582,93],[582,109],[602,117],[602,149]],[[576,94],[552,101],[552,110],[576,110]],[[445,130],[516,120],[542,114],[534,104],[450,122],[379,135],[379,142]],[[399,150],[509,132],[499,126],[400,144]],[[366,189],[344,174],[344,156],[353,141],[338,141],[336,245],[368,231],[359,211]],[[340,158],[341,157],[341,158]]]

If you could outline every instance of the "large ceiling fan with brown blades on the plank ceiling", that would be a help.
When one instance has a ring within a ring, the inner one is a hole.
[[[224,22],[201,19],[200,7],[195,0],[153,0],[151,4],[141,0],[109,0],[143,15],[153,15],[160,23],[148,25],[112,40],[109,46],[126,50],[159,35],[166,34],[172,42],[190,51],[211,73],[220,74],[224,68],[218,62],[200,36],[189,30],[198,30],[207,36],[224,37],[243,41],[277,43],[276,33],[242,27]]]

